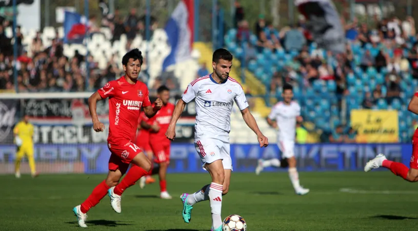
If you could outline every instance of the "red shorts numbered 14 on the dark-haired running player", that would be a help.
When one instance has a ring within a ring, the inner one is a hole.
[[[122,174],[128,170],[132,159],[142,152],[141,148],[129,140],[121,140],[115,143],[107,143],[111,152],[109,158],[109,170],[119,169]]]

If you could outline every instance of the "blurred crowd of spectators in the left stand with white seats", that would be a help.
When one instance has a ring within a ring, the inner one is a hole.
[[[95,90],[123,73],[121,64],[115,63],[114,59],[108,61],[107,68],[100,69],[91,55],[86,59],[84,55],[75,51],[73,57],[65,56],[63,37],[59,37],[57,31],[55,37],[50,38],[51,45],[48,47],[44,46],[41,32],[36,33],[30,44],[23,44],[24,35],[18,26],[16,29],[17,83],[15,83],[13,40],[6,36],[5,32],[6,28],[12,27],[13,24],[5,14],[0,15],[0,21],[0,90],[13,91],[15,84],[17,84],[19,92]],[[100,33],[100,27],[108,27],[112,32],[112,43],[120,40],[122,34],[126,34],[127,47],[130,47],[136,35],[145,34],[145,16],[138,17],[135,9],[131,9],[130,14],[126,17],[120,15],[119,10],[116,9],[114,14],[103,17],[101,22],[97,22],[96,16],[92,15],[89,25],[90,35]],[[154,17],[151,17],[150,27],[151,32],[157,27]],[[140,78],[144,80],[149,78],[146,63],[147,61],[144,60],[143,70],[140,73]],[[89,71],[88,79],[86,79],[87,71]],[[156,89],[163,83],[171,88],[176,87],[172,82],[169,78],[165,78],[164,82],[159,79],[155,81],[154,86],[150,87]]]

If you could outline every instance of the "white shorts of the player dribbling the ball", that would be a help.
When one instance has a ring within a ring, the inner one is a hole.
[[[194,147],[202,160],[203,169],[206,170],[206,163],[210,164],[216,160],[222,160],[224,169],[232,170],[229,143],[217,139],[205,138],[195,141]]]

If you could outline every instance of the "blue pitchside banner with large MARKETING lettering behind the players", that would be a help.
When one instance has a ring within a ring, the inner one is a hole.
[[[13,174],[15,152],[13,145],[0,145],[0,174]],[[301,171],[363,170],[367,161],[378,153],[385,153],[389,160],[409,166],[412,145],[306,144],[295,147],[297,168]],[[36,144],[34,155],[41,173],[105,174],[110,152],[105,143]],[[276,145],[260,148],[257,144],[231,144],[231,157],[235,172],[253,172],[259,158],[280,158],[280,150]],[[170,158],[169,172],[205,172],[193,144],[172,144]],[[22,171],[29,172],[28,166],[23,164]]]

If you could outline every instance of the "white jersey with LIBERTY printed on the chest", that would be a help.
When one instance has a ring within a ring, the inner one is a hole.
[[[229,143],[231,112],[235,103],[240,110],[248,107],[245,93],[236,80],[228,79],[218,84],[212,74],[192,81],[184,91],[182,100],[196,102],[195,141],[213,138]]]

